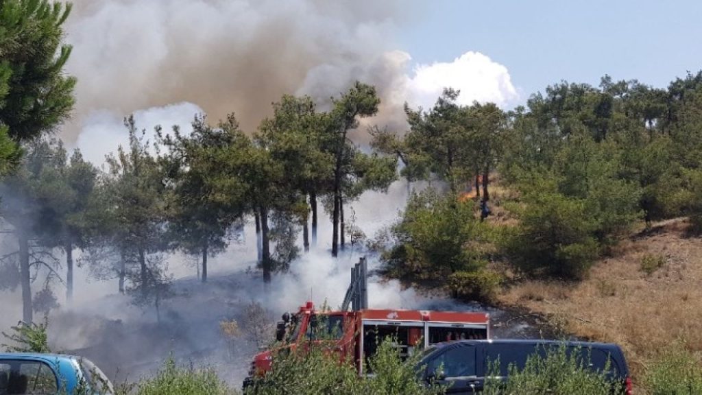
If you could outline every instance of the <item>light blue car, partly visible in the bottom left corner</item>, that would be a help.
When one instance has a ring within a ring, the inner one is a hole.
[[[60,354],[0,354],[0,395],[112,395],[110,380],[91,361]]]

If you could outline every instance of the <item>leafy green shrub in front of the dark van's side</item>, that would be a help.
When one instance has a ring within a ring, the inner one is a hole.
[[[491,372],[486,377],[484,395],[611,395],[618,394],[604,373],[588,369],[589,358],[580,353],[568,352],[567,347],[550,348],[545,356],[530,356],[524,369],[509,367],[507,382],[496,378],[500,375],[499,361],[489,362]],[[609,366],[605,367],[608,370]]]

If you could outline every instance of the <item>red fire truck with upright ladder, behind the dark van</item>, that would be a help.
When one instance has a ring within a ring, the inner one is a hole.
[[[284,313],[278,323],[279,347],[263,351],[253,358],[249,377],[264,375],[271,368],[273,354],[281,349],[297,349],[309,342],[333,342],[340,358],[353,358],[359,374],[364,361],[376,353],[384,339],[392,337],[406,357],[430,344],[458,339],[488,339],[489,314],[479,312],[367,309],[366,261],[361,259],[352,269],[352,282],[340,311],[315,311],[307,302],[297,313]],[[347,311],[352,304],[352,310]]]

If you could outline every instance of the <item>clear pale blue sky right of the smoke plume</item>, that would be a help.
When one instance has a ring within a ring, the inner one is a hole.
[[[477,51],[508,68],[522,100],[566,79],[665,87],[702,68],[702,1],[434,1],[400,27],[413,63]]]

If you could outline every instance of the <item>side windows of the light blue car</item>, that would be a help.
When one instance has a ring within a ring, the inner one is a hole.
[[[53,370],[39,361],[0,363],[0,394],[55,395],[58,381]]]

